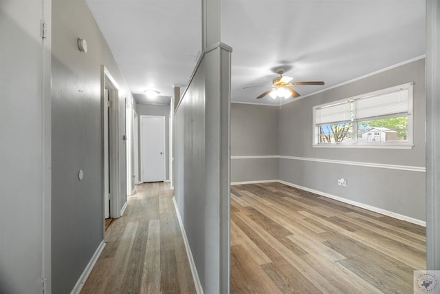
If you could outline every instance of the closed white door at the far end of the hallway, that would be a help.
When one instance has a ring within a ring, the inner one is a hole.
[[[165,180],[165,116],[141,116],[141,182]]]

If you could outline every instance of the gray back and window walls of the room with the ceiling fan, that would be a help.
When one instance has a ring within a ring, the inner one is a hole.
[[[415,82],[413,103],[415,146],[412,149],[312,147],[312,107],[314,105],[408,82]],[[426,175],[424,172],[362,166],[362,163],[366,165],[379,163],[425,167],[425,96],[425,60],[421,59],[294,101],[283,105],[282,109],[232,104],[232,182],[283,180],[425,221]],[[265,116],[267,117],[264,118]],[[276,124],[272,123],[274,129],[270,132],[269,129],[265,129],[265,126],[273,121],[274,116],[279,117],[278,130],[276,131]],[[253,126],[259,126],[259,128],[254,129]],[[274,134],[278,140],[277,151],[269,149],[270,146],[266,144],[274,140]],[[267,140],[264,136],[267,136]],[[234,156],[274,154],[294,157],[294,159],[277,159],[276,176],[278,178],[272,178],[272,174],[269,174],[273,169],[270,163],[272,158],[234,159]],[[320,162],[321,159],[361,162],[361,164],[340,165]],[[347,187],[338,186],[338,178],[347,179]]]

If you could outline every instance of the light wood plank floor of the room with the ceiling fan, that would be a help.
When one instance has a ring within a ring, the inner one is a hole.
[[[413,293],[423,227],[278,183],[231,187],[231,293]]]

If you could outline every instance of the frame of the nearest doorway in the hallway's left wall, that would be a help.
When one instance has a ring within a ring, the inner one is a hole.
[[[107,97],[105,97],[105,89],[109,90],[109,101],[111,107],[108,106]],[[120,150],[119,150],[119,89],[118,83],[111,76],[109,70],[104,65],[101,65],[101,105],[102,105],[102,211],[105,215],[105,193],[107,191],[105,184],[106,180],[110,183],[112,193],[109,196],[110,200],[110,218],[119,218],[121,216],[120,207]],[[109,119],[104,119],[104,113],[109,107]],[[105,125],[108,123],[109,132],[105,131]],[[107,138],[109,134],[109,138]],[[107,145],[109,142],[109,145]],[[109,147],[109,170],[110,177],[105,172],[106,160],[104,158],[104,149]],[[104,218],[102,218],[103,225]],[[105,231],[105,229],[104,229]]]

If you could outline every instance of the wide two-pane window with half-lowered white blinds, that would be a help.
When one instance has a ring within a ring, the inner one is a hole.
[[[317,105],[314,147],[412,147],[412,87],[407,83]]]

